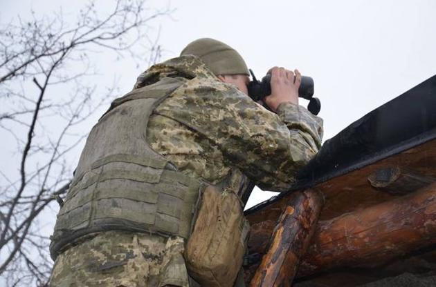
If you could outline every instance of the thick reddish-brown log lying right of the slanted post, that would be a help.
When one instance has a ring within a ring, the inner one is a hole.
[[[298,277],[331,268],[374,267],[436,244],[436,184],[320,221]]]

